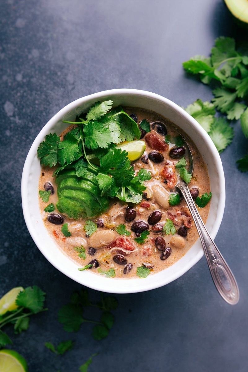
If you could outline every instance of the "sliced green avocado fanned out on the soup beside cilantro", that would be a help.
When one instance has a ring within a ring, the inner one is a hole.
[[[74,169],[63,170],[56,178],[59,212],[70,219],[93,218],[106,211],[109,198],[101,196],[94,173],[78,177]]]

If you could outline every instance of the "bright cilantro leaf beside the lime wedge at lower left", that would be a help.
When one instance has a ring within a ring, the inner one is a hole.
[[[16,305],[25,307],[33,313],[41,311],[44,307],[45,292],[38,286],[25,288],[16,298]]]

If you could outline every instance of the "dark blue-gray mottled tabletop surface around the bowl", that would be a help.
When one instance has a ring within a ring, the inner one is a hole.
[[[221,0],[2,0],[0,2],[1,245],[0,296],[39,285],[49,312],[14,336],[13,349],[30,372],[74,372],[94,352],[90,371],[246,372],[247,184],[235,161],[247,140],[235,139],[221,158],[226,208],[216,243],[231,266],[241,299],[220,298],[203,258],[162,288],[117,295],[110,336],[94,341],[91,326],[67,334],[59,307],[80,286],[39,252],[26,228],[20,195],[23,164],[44,124],[67,103],[112,88],[144,89],[182,106],[210,100],[209,87],[184,74],[181,62],[208,55],[220,35],[247,38]],[[99,293],[90,291],[92,298]],[[131,310],[131,312],[129,311]],[[44,343],[72,338],[73,351],[55,359]]]

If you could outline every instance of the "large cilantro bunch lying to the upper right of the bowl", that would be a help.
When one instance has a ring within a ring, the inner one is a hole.
[[[248,138],[248,55],[236,51],[235,40],[220,36],[210,57],[196,55],[183,67],[188,73],[197,74],[202,83],[213,86],[212,103],[197,100],[186,111],[209,133],[218,151],[222,152],[232,142],[233,129],[225,119],[215,118],[215,110],[229,120],[240,119]],[[241,171],[248,171],[247,156],[237,162]]]

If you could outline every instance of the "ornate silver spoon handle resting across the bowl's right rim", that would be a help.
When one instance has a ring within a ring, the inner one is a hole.
[[[239,300],[239,289],[236,280],[229,269],[228,264],[223,259],[220,251],[210,237],[190,195],[189,187],[185,182],[179,182],[176,187],[181,190],[187,206],[189,207],[202,242],[213,282],[215,283],[220,296],[222,296],[222,298],[230,305],[237,304]]]

